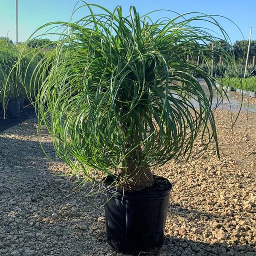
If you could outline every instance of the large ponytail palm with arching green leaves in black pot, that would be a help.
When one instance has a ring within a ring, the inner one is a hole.
[[[227,65],[234,64],[233,55],[224,40],[202,28],[203,21],[214,23],[224,33],[207,15],[154,22],[134,7],[125,17],[120,6],[113,12],[84,6],[89,14],[78,22],[42,27],[62,30],[55,49],[41,62],[45,79],[35,104],[39,124],[46,125],[74,174],[103,181],[109,244],[121,251],[149,250],[163,244],[171,190],[168,180],[153,175],[152,166],[187,160],[198,137],[204,149],[211,140],[218,148],[215,80],[188,59],[199,52],[207,63],[214,42],[222,42],[215,56]]]

